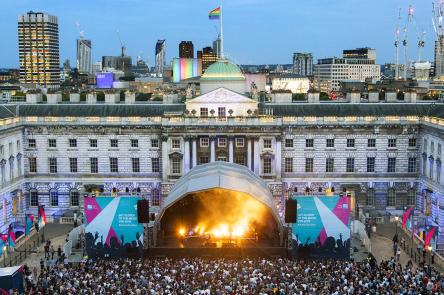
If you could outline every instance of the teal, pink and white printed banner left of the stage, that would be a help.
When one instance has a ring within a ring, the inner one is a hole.
[[[139,197],[85,198],[86,252],[90,258],[127,257],[143,250]]]

